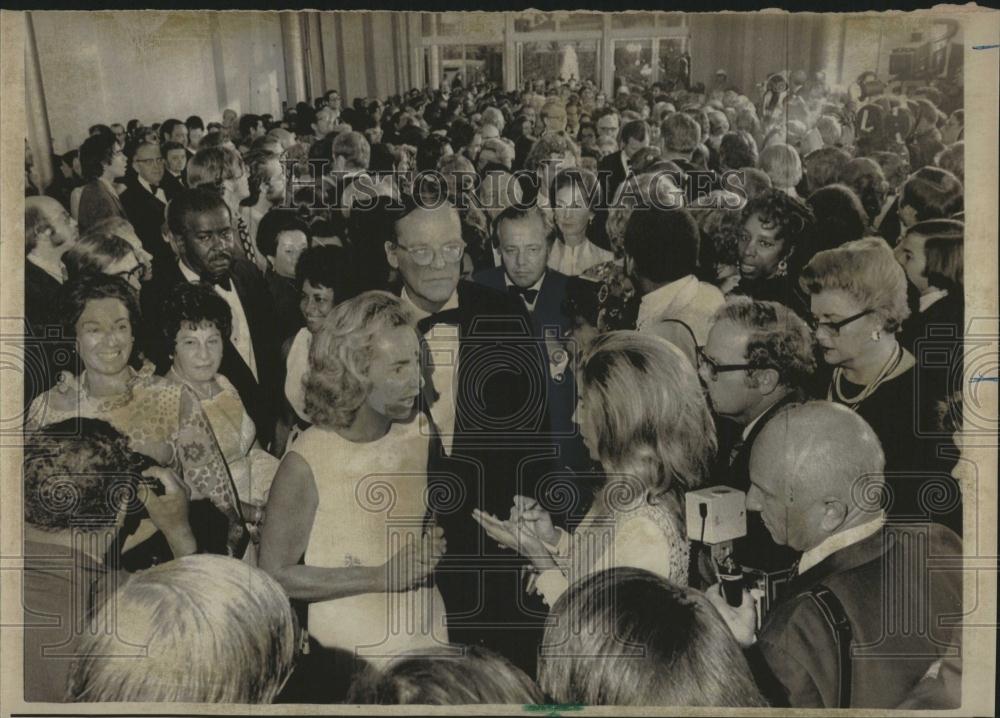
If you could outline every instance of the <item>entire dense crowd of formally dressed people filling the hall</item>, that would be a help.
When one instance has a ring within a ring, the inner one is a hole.
[[[958,82],[220,119],[27,155],[26,700],[957,706]]]

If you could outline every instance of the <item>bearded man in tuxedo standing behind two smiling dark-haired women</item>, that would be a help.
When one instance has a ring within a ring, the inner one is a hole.
[[[140,298],[148,333],[143,345],[161,371],[169,367],[171,358],[162,340],[153,336],[162,327],[164,299],[181,282],[212,284],[233,313],[233,330],[219,373],[239,392],[257,426],[257,438],[267,447],[274,433],[278,391],[275,321],[260,272],[249,262],[233,258],[231,222],[228,206],[211,189],[184,190],[170,203],[167,224],[176,257],[154,265],[153,279],[143,285]]]

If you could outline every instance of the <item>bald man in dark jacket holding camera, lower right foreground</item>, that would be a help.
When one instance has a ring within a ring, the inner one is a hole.
[[[884,465],[864,419],[825,401],[782,410],[754,444],[747,509],[802,552],[798,574],[759,636],[749,594],[739,608],[717,587],[708,596],[752,646],[774,705],[894,708],[958,640],[961,540],[937,524],[886,524]]]

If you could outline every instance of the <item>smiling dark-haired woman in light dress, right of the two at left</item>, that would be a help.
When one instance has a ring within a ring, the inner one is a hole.
[[[162,318],[162,340],[172,362],[166,378],[190,389],[201,403],[256,541],[278,460],[261,448],[239,392],[219,373],[232,312],[209,285],[183,282],[167,297]],[[245,558],[256,563],[254,547]]]

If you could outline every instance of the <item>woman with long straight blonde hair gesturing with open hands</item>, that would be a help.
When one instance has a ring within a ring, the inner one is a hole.
[[[683,495],[715,455],[715,428],[691,362],[657,336],[599,336],[580,369],[575,420],[607,474],[572,534],[534,499],[517,496],[506,521],[474,511],[491,538],[529,558],[551,607],[575,581],[631,566],[688,583]]]

